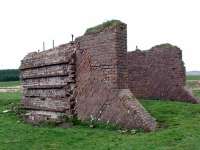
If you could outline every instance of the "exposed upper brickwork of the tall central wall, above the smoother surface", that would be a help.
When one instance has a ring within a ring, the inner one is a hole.
[[[80,51],[88,50],[91,54],[91,67],[101,70],[104,81],[109,82],[112,88],[128,87],[126,39],[126,24],[123,23],[115,28],[85,34],[76,39]]]

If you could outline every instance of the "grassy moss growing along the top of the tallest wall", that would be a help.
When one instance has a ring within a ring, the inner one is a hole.
[[[122,24],[122,22],[121,22],[120,20],[110,20],[110,21],[106,21],[106,22],[103,22],[103,23],[100,24],[100,25],[97,25],[97,26],[88,28],[88,29],[85,31],[85,34],[101,32],[101,31],[103,31],[105,28],[112,28],[112,27],[115,27],[115,26],[117,26],[117,25],[119,25],[119,24]]]

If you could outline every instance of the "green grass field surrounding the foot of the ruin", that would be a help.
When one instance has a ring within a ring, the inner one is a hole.
[[[200,95],[200,91],[196,91]],[[200,105],[142,100],[157,119],[155,132],[120,133],[106,128],[73,126],[33,127],[12,112],[20,93],[0,93],[0,150],[198,150],[200,149]]]

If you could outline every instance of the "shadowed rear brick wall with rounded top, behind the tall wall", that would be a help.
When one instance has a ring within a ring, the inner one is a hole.
[[[181,50],[170,44],[128,52],[129,88],[136,97],[198,103],[185,88]]]

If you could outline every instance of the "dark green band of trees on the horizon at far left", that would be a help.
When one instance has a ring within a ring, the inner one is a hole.
[[[2,81],[18,81],[19,70],[18,69],[6,69],[0,70],[0,82]]]

